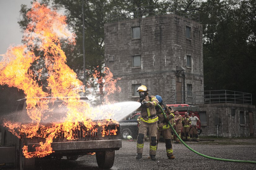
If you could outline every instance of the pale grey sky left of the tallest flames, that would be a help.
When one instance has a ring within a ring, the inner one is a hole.
[[[21,44],[22,33],[17,23],[20,19],[20,5],[30,7],[30,2],[31,0],[0,0],[0,54],[6,53],[10,44]]]

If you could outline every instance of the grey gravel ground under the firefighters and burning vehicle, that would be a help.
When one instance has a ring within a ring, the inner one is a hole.
[[[227,142],[224,142],[225,144],[219,144],[220,141],[223,142],[222,140],[215,140],[212,143],[209,143],[209,141],[186,143],[195,151],[208,156],[233,160],[256,161],[255,138],[249,141],[247,139],[227,139],[227,141],[231,141],[230,144]],[[256,164],[232,163],[204,158],[191,152],[183,144],[173,143],[173,153],[176,158],[174,160],[168,160],[165,151],[165,143],[159,143],[156,155],[157,160],[151,161],[148,159],[149,142],[146,141],[142,159],[136,160],[136,141],[123,140],[122,148],[115,152],[115,163],[111,169],[256,169]],[[36,164],[35,168],[39,170],[99,169],[95,155],[85,155],[79,157],[76,161],[67,161],[65,158],[59,161],[41,160]]]

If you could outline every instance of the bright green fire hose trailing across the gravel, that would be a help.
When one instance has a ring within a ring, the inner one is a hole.
[[[164,115],[164,118],[166,118],[166,115],[164,113],[164,110],[162,109],[162,107],[160,105],[158,105],[159,109],[162,110],[162,113]],[[183,143],[183,145],[185,145],[189,150],[191,150],[192,152],[196,153],[197,155],[203,156],[205,158],[209,158],[212,160],[220,160],[220,161],[227,161],[227,162],[240,162],[240,163],[252,163],[252,164],[256,164],[256,161],[250,161],[250,160],[228,160],[228,159],[222,159],[222,158],[214,158],[211,156],[207,156],[204,154],[201,154],[197,151],[195,151],[194,149],[192,149],[191,147],[189,147],[185,142],[183,142],[183,140],[179,137],[179,135],[177,134],[177,132],[174,130],[173,126],[171,125],[170,122],[168,122],[168,124],[170,125],[170,127],[172,128],[173,132],[175,133],[175,135],[177,136],[178,139],[180,139],[180,141]]]

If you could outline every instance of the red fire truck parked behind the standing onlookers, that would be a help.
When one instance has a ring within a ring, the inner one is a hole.
[[[198,106],[188,105],[188,104],[167,104],[167,106],[170,106],[174,111],[178,110],[179,114],[183,117],[185,115],[185,112],[188,113],[189,116],[191,116],[191,113],[194,112],[195,116],[199,118],[199,108]],[[198,135],[202,133],[201,129],[201,123],[199,123],[199,126],[197,128]]]

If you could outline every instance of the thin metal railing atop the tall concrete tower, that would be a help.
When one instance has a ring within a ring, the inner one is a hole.
[[[111,14],[107,17],[107,23],[137,19],[137,18],[146,18],[149,16],[164,15],[164,14],[176,14],[187,19],[194,20],[199,22],[199,13],[194,10],[184,8],[180,5],[177,5],[173,2],[168,3],[159,3],[150,6],[142,6],[137,8],[131,8],[127,10],[122,10],[118,14]]]

